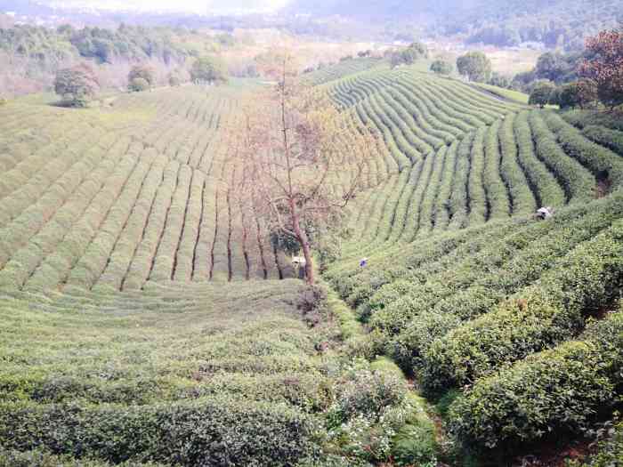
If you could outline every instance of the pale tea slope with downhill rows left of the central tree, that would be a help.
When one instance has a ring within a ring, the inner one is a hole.
[[[235,91],[186,88],[99,112],[2,109],[0,284],[139,290],[287,275],[228,184],[218,128],[236,105]]]

